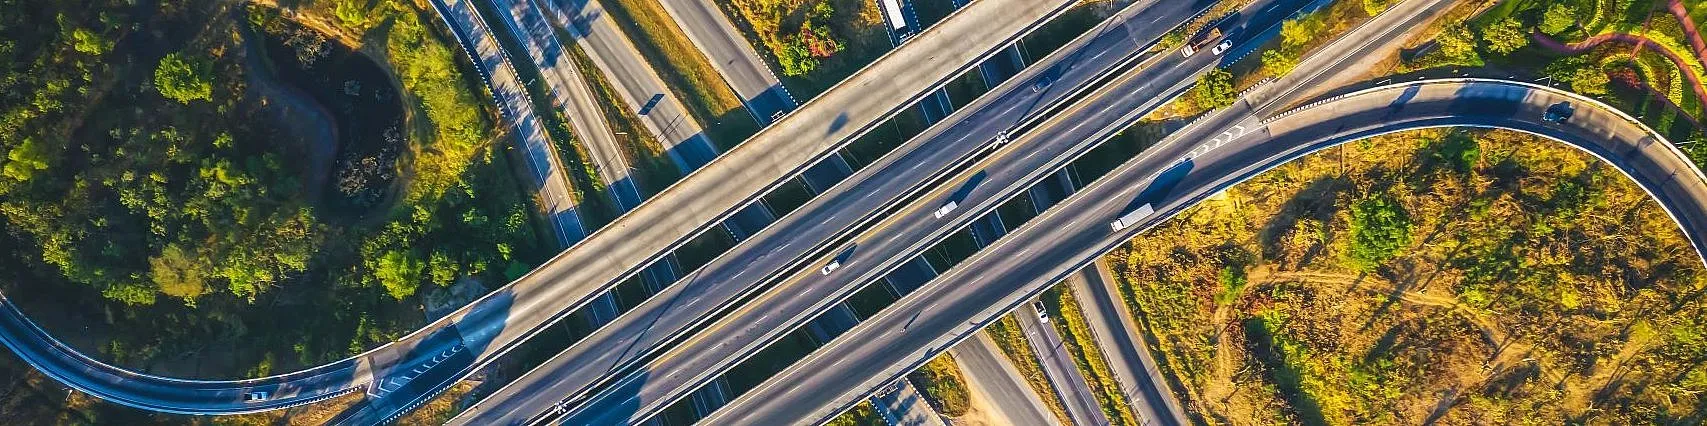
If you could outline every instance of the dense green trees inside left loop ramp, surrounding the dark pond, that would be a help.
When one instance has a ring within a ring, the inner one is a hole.
[[[406,181],[364,220],[329,218],[307,199],[300,133],[249,87],[266,82],[249,65],[268,61],[246,58],[244,43],[288,14],[222,14],[215,0],[0,0],[0,269],[19,274],[0,283],[9,295],[92,307],[44,325],[94,325],[85,336],[101,341],[70,341],[109,361],[266,375],[418,327],[410,296],[423,286],[497,285],[543,259],[531,201],[493,150],[502,140],[454,46],[406,2],[345,3],[391,22],[367,43],[415,111],[393,140],[401,165],[386,167]],[[138,31],[160,27],[184,31]],[[333,43],[294,34],[304,63]],[[184,366],[189,353],[222,363]]]

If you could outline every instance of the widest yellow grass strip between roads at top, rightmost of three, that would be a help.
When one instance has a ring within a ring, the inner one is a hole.
[[[603,0],[603,5],[671,94],[700,121],[712,143],[729,150],[758,133],[753,112],[659,0]]]

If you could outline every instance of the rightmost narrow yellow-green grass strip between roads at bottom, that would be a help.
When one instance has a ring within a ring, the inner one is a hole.
[[[1132,404],[1127,400],[1125,392],[1120,390],[1120,382],[1115,380],[1115,370],[1108,366],[1108,358],[1103,349],[1096,346],[1096,337],[1091,334],[1091,324],[1086,322],[1084,312],[1079,308],[1079,300],[1072,293],[1072,286],[1057,285],[1053,290],[1043,293],[1043,305],[1055,314],[1058,320],[1052,320],[1057,331],[1065,336],[1067,353],[1072,354],[1074,365],[1084,373],[1086,382],[1091,385],[1091,392],[1096,395],[1098,406],[1103,407],[1103,414],[1115,424],[1139,426],[1137,416],[1132,412]]]

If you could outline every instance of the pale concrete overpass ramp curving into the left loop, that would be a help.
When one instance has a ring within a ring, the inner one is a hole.
[[[256,380],[191,382],[101,365],[0,310],[12,332],[0,343],[50,377],[138,409],[232,414],[294,407],[365,390],[379,412],[401,412],[502,356],[534,332],[587,305],[732,211],[785,184],[918,97],[1058,15],[1070,0],[982,0],[908,46],[891,51],[702,170],[647,199],[527,276],[420,331],[345,361]],[[447,10],[454,31],[471,9]],[[452,14],[454,12],[454,14]],[[459,34],[464,39],[466,34]],[[490,37],[486,37],[490,39]],[[497,53],[495,43],[480,53]],[[519,87],[517,87],[519,92]],[[529,121],[522,121],[529,123]],[[541,133],[541,131],[536,131]],[[550,157],[550,155],[548,155]],[[249,392],[266,392],[244,402]],[[382,414],[389,417],[391,414]]]

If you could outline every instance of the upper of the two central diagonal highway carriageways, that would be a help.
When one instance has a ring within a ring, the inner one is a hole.
[[[488,402],[476,404],[452,423],[521,423],[574,406],[565,402],[579,400],[613,378],[632,375],[630,366],[644,361],[654,349],[685,337],[695,325],[710,320],[710,314],[724,312],[744,295],[761,290],[756,283],[763,283],[763,278],[799,269],[802,259],[816,259],[818,252],[840,249],[823,242],[836,240],[860,223],[869,223],[884,206],[930,187],[935,182],[934,176],[983,152],[997,133],[1041,112],[1043,107],[1067,101],[1074,94],[1069,89],[1089,87],[1089,82],[1133,60],[1171,26],[1130,31],[1128,27],[1159,20],[1178,24],[1209,3],[1133,5],[1111,24],[1069,44],[1014,82],[997,87],[944,124],[884,155],[877,164],[855,172],[831,191],[688,274],[683,283],[664,288],[538,370],[495,392]],[[1212,60],[1200,61],[1203,66],[1209,63]],[[1041,75],[1060,82],[1058,87],[1063,90],[1033,90],[1029,82]],[[1191,73],[1183,73],[1176,78],[1190,80],[1190,77]]]

